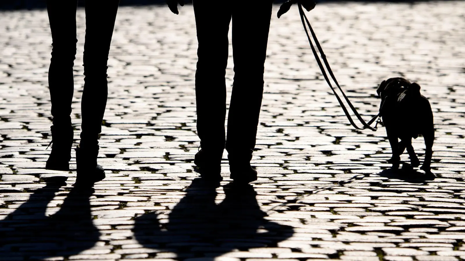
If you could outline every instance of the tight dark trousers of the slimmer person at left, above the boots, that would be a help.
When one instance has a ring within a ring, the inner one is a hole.
[[[106,63],[118,4],[119,0],[86,1],[81,143],[97,144],[101,132],[108,95]],[[48,84],[53,125],[57,129],[71,126],[73,65],[77,43],[76,8],[77,0],[47,0],[53,46]]]

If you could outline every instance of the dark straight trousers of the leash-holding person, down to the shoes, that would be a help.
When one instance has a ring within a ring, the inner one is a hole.
[[[194,0],[193,6],[199,41],[195,94],[201,147],[222,151],[226,142],[230,156],[251,157],[263,96],[272,0]],[[225,138],[225,69],[231,20],[234,83]]]

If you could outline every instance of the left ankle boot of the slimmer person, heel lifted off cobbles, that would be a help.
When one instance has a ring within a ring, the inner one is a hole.
[[[73,127],[57,128],[52,125],[52,152],[45,164],[46,170],[69,171],[69,160],[71,159],[71,146],[73,146]]]

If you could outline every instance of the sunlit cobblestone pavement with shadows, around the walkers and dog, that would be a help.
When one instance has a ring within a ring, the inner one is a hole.
[[[121,7],[100,139],[107,178],[85,192],[72,189],[75,171],[44,169],[51,124],[46,11],[0,12],[0,260],[464,259],[465,2],[333,3],[309,14],[366,119],[378,110],[381,80],[405,76],[422,86],[436,126],[434,177],[389,169],[385,129],[348,124],[297,7],[279,20],[277,8],[252,160],[258,181],[228,186],[226,152],[221,186],[196,179],[192,6],[177,16],[167,7]],[[83,10],[78,22],[75,142]],[[421,160],[423,139],[413,145]]]

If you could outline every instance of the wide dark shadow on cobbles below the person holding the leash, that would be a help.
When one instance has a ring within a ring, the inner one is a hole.
[[[196,178],[168,215],[168,222],[166,217],[159,220],[156,212],[136,218],[134,235],[153,249],[150,257],[162,251],[174,253],[170,258],[177,260],[213,260],[235,249],[276,247],[293,234],[292,227],[264,218],[251,185],[226,185],[224,200],[216,204],[218,186]]]

